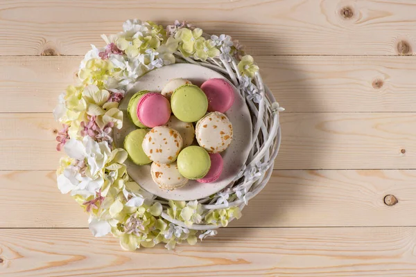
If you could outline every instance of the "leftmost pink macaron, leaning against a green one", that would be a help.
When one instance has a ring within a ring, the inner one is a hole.
[[[147,93],[139,101],[137,117],[150,128],[165,125],[171,117],[171,104],[160,93]]]

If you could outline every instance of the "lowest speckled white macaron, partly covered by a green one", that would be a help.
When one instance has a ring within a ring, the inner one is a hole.
[[[187,184],[188,179],[180,175],[176,162],[159,164],[152,163],[150,173],[153,181],[165,190],[175,190]]]

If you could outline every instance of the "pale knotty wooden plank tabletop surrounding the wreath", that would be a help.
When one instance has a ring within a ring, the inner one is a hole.
[[[286,108],[241,220],[171,252],[93,238],[55,183],[57,97],[135,17],[238,38]],[[3,0],[0,24],[0,276],[416,276],[416,1]]]

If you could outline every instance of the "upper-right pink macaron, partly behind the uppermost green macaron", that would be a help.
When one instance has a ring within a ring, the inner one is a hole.
[[[226,80],[209,79],[202,84],[201,89],[208,98],[208,111],[225,113],[234,102],[234,89]]]

